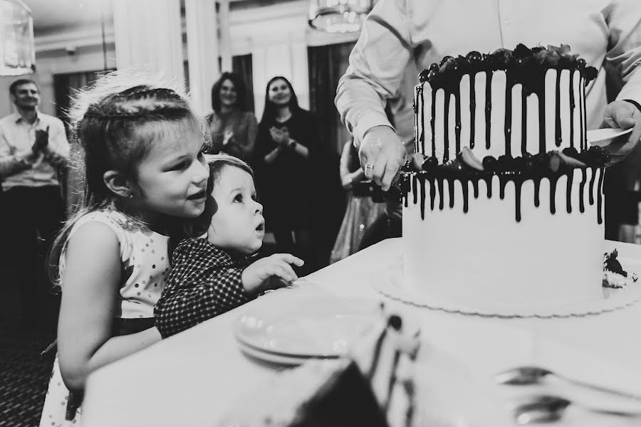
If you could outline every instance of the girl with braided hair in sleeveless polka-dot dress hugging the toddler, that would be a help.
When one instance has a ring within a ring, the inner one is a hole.
[[[88,374],[160,340],[167,233],[202,214],[209,178],[203,124],[175,90],[114,73],[79,95],[72,120],[85,201],[51,253],[62,302],[41,426],[78,426]]]

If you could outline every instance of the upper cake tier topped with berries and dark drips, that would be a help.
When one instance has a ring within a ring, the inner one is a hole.
[[[585,139],[585,86],[597,75],[569,46],[446,56],[415,87],[416,151],[439,162],[462,147],[511,157],[573,147]]]

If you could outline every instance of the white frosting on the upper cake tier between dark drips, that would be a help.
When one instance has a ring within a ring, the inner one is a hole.
[[[580,150],[581,147],[581,123],[585,117],[585,103],[580,99],[583,95],[583,78],[580,78],[578,71],[561,70],[561,80],[559,84],[559,117],[561,118],[561,145],[556,145],[556,93],[557,93],[557,70],[547,70],[545,77],[545,100],[544,116],[546,123],[545,132],[545,152],[553,149],[561,150],[566,147],[575,147]],[[570,91],[570,73],[573,79],[572,90]],[[499,157],[506,153],[506,132],[505,132],[505,112],[506,112],[506,72],[498,70],[492,72],[491,79],[491,112],[490,112],[490,146],[486,147],[486,83],[487,73],[482,71],[474,74],[474,96],[476,107],[474,108],[474,147],[473,151],[476,157],[483,159],[486,156]],[[463,75],[459,83],[459,95],[461,100],[461,147],[471,147],[471,104],[470,104],[470,76]],[[434,130],[432,130],[432,86],[429,83],[419,85],[422,88],[422,95],[417,91],[417,136],[423,135],[423,144],[417,142],[417,152],[421,152],[426,157],[432,156],[432,133],[434,133],[434,151],[439,162],[446,159],[454,159],[457,154],[456,144],[456,97],[449,95],[449,105],[447,110],[447,135],[448,149],[447,157],[445,156],[445,127],[444,118],[446,91],[438,88],[435,94],[435,120]],[[574,107],[570,112],[570,92],[573,93]],[[521,130],[523,122],[523,108],[521,98],[523,86],[517,83],[512,88],[511,102],[511,140],[510,152],[513,157],[523,154]],[[526,151],[530,154],[540,152],[539,141],[539,104],[541,100],[536,93],[530,93],[526,97]],[[573,122],[573,132],[570,131],[570,124]],[[422,125],[424,128],[421,129]],[[585,127],[583,128],[585,132]],[[572,138],[570,139],[570,133]],[[417,138],[418,140],[419,138]],[[585,138],[583,138],[585,144]],[[424,147],[424,149],[423,149]],[[471,147],[472,148],[472,147]]]

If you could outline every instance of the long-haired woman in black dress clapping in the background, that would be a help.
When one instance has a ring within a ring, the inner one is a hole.
[[[313,251],[313,159],[316,121],[298,106],[296,93],[281,76],[267,83],[265,109],[254,149],[254,169],[266,226],[278,251],[296,253],[306,271],[318,263]]]

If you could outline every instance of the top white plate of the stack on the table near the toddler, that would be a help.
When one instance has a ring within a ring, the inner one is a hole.
[[[374,300],[303,295],[286,302],[245,312],[234,325],[236,339],[277,356],[340,357],[380,319]]]

